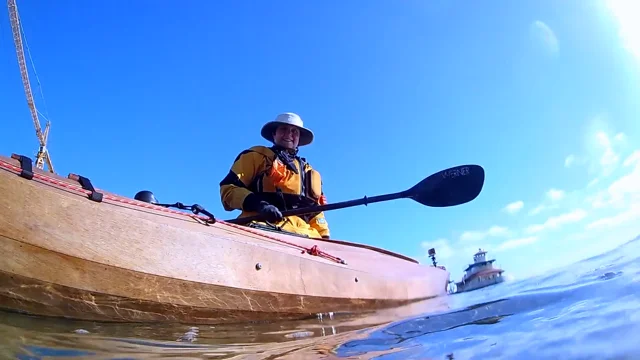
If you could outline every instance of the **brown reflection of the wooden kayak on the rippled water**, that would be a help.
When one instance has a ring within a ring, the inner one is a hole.
[[[21,359],[81,358],[332,358],[339,344],[381,324],[445,311],[449,298],[430,299],[366,316],[334,314],[315,320],[198,326],[68,321],[0,312],[5,354]],[[284,357],[282,357],[284,356]]]

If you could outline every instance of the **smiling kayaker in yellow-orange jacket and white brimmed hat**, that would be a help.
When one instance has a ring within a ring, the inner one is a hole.
[[[283,218],[282,211],[323,205],[320,173],[298,156],[298,147],[313,141],[313,132],[300,116],[283,113],[262,127],[261,135],[273,146],[254,146],[241,152],[220,182],[225,210],[242,210],[239,217],[261,214],[283,230],[330,237],[323,212]]]

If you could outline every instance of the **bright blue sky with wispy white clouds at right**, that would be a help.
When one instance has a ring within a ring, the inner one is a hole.
[[[301,153],[329,201],[458,164],[487,173],[459,207],[329,212],[335,238],[425,262],[435,246],[455,279],[483,247],[522,278],[640,232],[637,5],[362,4],[19,1],[56,172],[228,219],[220,179],[238,152],[265,144],[264,122],[293,111],[315,132]],[[0,152],[33,155],[6,15],[0,51]]]

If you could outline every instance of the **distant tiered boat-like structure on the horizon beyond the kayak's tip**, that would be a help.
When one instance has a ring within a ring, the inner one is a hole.
[[[473,255],[473,264],[469,264],[464,270],[462,280],[455,283],[455,290],[450,288],[450,293],[477,290],[504,281],[502,276],[504,270],[493,267],[493,262],[496,260],[487,260],[486,254],[486,251],[478,249],[478,252]]]

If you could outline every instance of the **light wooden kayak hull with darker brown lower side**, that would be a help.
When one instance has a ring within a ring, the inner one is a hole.
[[[102,190],[96,202],[75,180],[19,173],[20,162],[0,157],[3,309],[215,324],[373,311],[446,294],[448,271],[388,251],[205,223]]]

